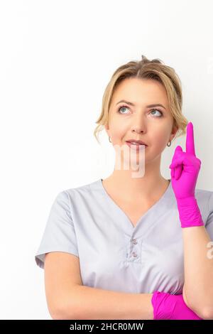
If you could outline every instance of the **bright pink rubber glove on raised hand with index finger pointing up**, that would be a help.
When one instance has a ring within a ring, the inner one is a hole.
[[[186,152],[177,146],[170,164],[171,182],[178,204],[181,227],[203,226],[202,215],[195,198],[195,186],[201,161],[195,156],[192,122],[187,124]]]

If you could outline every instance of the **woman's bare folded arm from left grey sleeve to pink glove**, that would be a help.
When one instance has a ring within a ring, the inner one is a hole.
[[[53,319],[153,319],[152,293],[123,293],[84,286],[80,259],[45,254],[45,294]]]

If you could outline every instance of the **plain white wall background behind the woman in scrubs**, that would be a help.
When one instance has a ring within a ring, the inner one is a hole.
[[[183,114],[202,161],[197,188],[213,189],[212,1],[0,1],[0,318],[50,319],[35,264],[62,190],[107,178],[114,149],[93,131],[120,65],[160,58],[175,68]],[[170,178],[175,147],[161,172]]]

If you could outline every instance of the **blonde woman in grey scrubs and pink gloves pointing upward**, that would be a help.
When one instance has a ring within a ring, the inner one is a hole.
[[[213,192],[195,190],[201,161],[175,70],[145,56],[121,65],[97,124],[96,138],[105,129],[116,151],[114,171],[57,195],[35,254],[51,316],[213,318]],[[161,154],[186,127],[167,180]]]

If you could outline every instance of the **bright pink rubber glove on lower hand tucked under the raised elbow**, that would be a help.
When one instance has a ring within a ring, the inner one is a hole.
[[[187,307],[180,295],[155,291],[151,302],[153,304],[153,320],[203,320]]]

